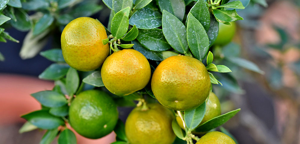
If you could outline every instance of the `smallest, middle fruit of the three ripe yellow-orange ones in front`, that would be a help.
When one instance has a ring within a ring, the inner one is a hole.
[[[101,68],[104,86],[115,95],[129,95],[143,89],[151,77],[146,57],[134,49],[123,49],[107,57]]]

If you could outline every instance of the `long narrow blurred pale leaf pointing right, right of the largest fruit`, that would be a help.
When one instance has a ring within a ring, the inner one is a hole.
[[[259,67],[256,64],[254,64],[251,61],[245,60],[243,58],[227,57],[226,60],[232,62],[233,64],[241,66],[245,69],[249,69],[253,72],[264,74],[264,72],[262,70],[260,70]]]

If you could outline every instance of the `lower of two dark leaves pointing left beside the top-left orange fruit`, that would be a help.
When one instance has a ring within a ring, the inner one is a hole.
[[[67,64],[51,64],[38,77],[44,80],[58,80],[67,74],[69,67]]]

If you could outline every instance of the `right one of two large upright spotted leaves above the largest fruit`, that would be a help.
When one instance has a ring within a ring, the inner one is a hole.
[[[187,21],[187,43],[194,57],[202,61],[208,52],[209,40],[204,27],[191,13]]]

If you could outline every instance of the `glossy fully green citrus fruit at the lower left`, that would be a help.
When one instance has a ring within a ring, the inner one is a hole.
[[[78,134],[98,139],[113,131],[118,120],[118,110],[107,93],[88,90],[79,93],[72,101],[69,119]]]

